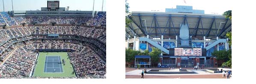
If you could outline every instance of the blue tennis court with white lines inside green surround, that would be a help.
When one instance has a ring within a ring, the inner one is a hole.
[[[45,56],[44,73],[63,73],[60,56]]]

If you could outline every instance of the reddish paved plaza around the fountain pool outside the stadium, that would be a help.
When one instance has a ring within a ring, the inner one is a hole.
[[[144,68],[125,68],[125,78],[141,78],[141,72]],[[147,68],[147,71],[152,69],[168,69],[168,68]],[[222,78],[222,73],[209,73],[205,72],[204,69],[193,70],[193,68],[182,68],[185,70],[192,70],[196,74],[146,74],[144,78]],[[205,68],[205,69],[217,69]],[[231,69],[225,69],[231,70]]]

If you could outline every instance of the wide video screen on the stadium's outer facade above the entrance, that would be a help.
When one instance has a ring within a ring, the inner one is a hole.
[[[201,48],[174,48],[174,56],[202,56]]]

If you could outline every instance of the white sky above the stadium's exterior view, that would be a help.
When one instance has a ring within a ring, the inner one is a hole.
[[[176,8],[176,5],[193,6],[196,10],[205,10],[205,14],[218,13],[232,10],[232,0],[128,0],[130,11],[159,10],[165,12],[165,8]],[[185,3],[186,2],[186,3]]]

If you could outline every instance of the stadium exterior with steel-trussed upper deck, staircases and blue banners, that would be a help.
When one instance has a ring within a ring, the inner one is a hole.
[[[162,51],[159,67],[217,67],[211,53],[214,50],[229,50],[226,33],[231,31],[232,22],[222,15],[204,14],[204,10],[193,10],[192,6],[166,8],[166,12],[133,11],[126,23],[126,48]],[[145,58],[135,56],[134,65],[150,66]]]

